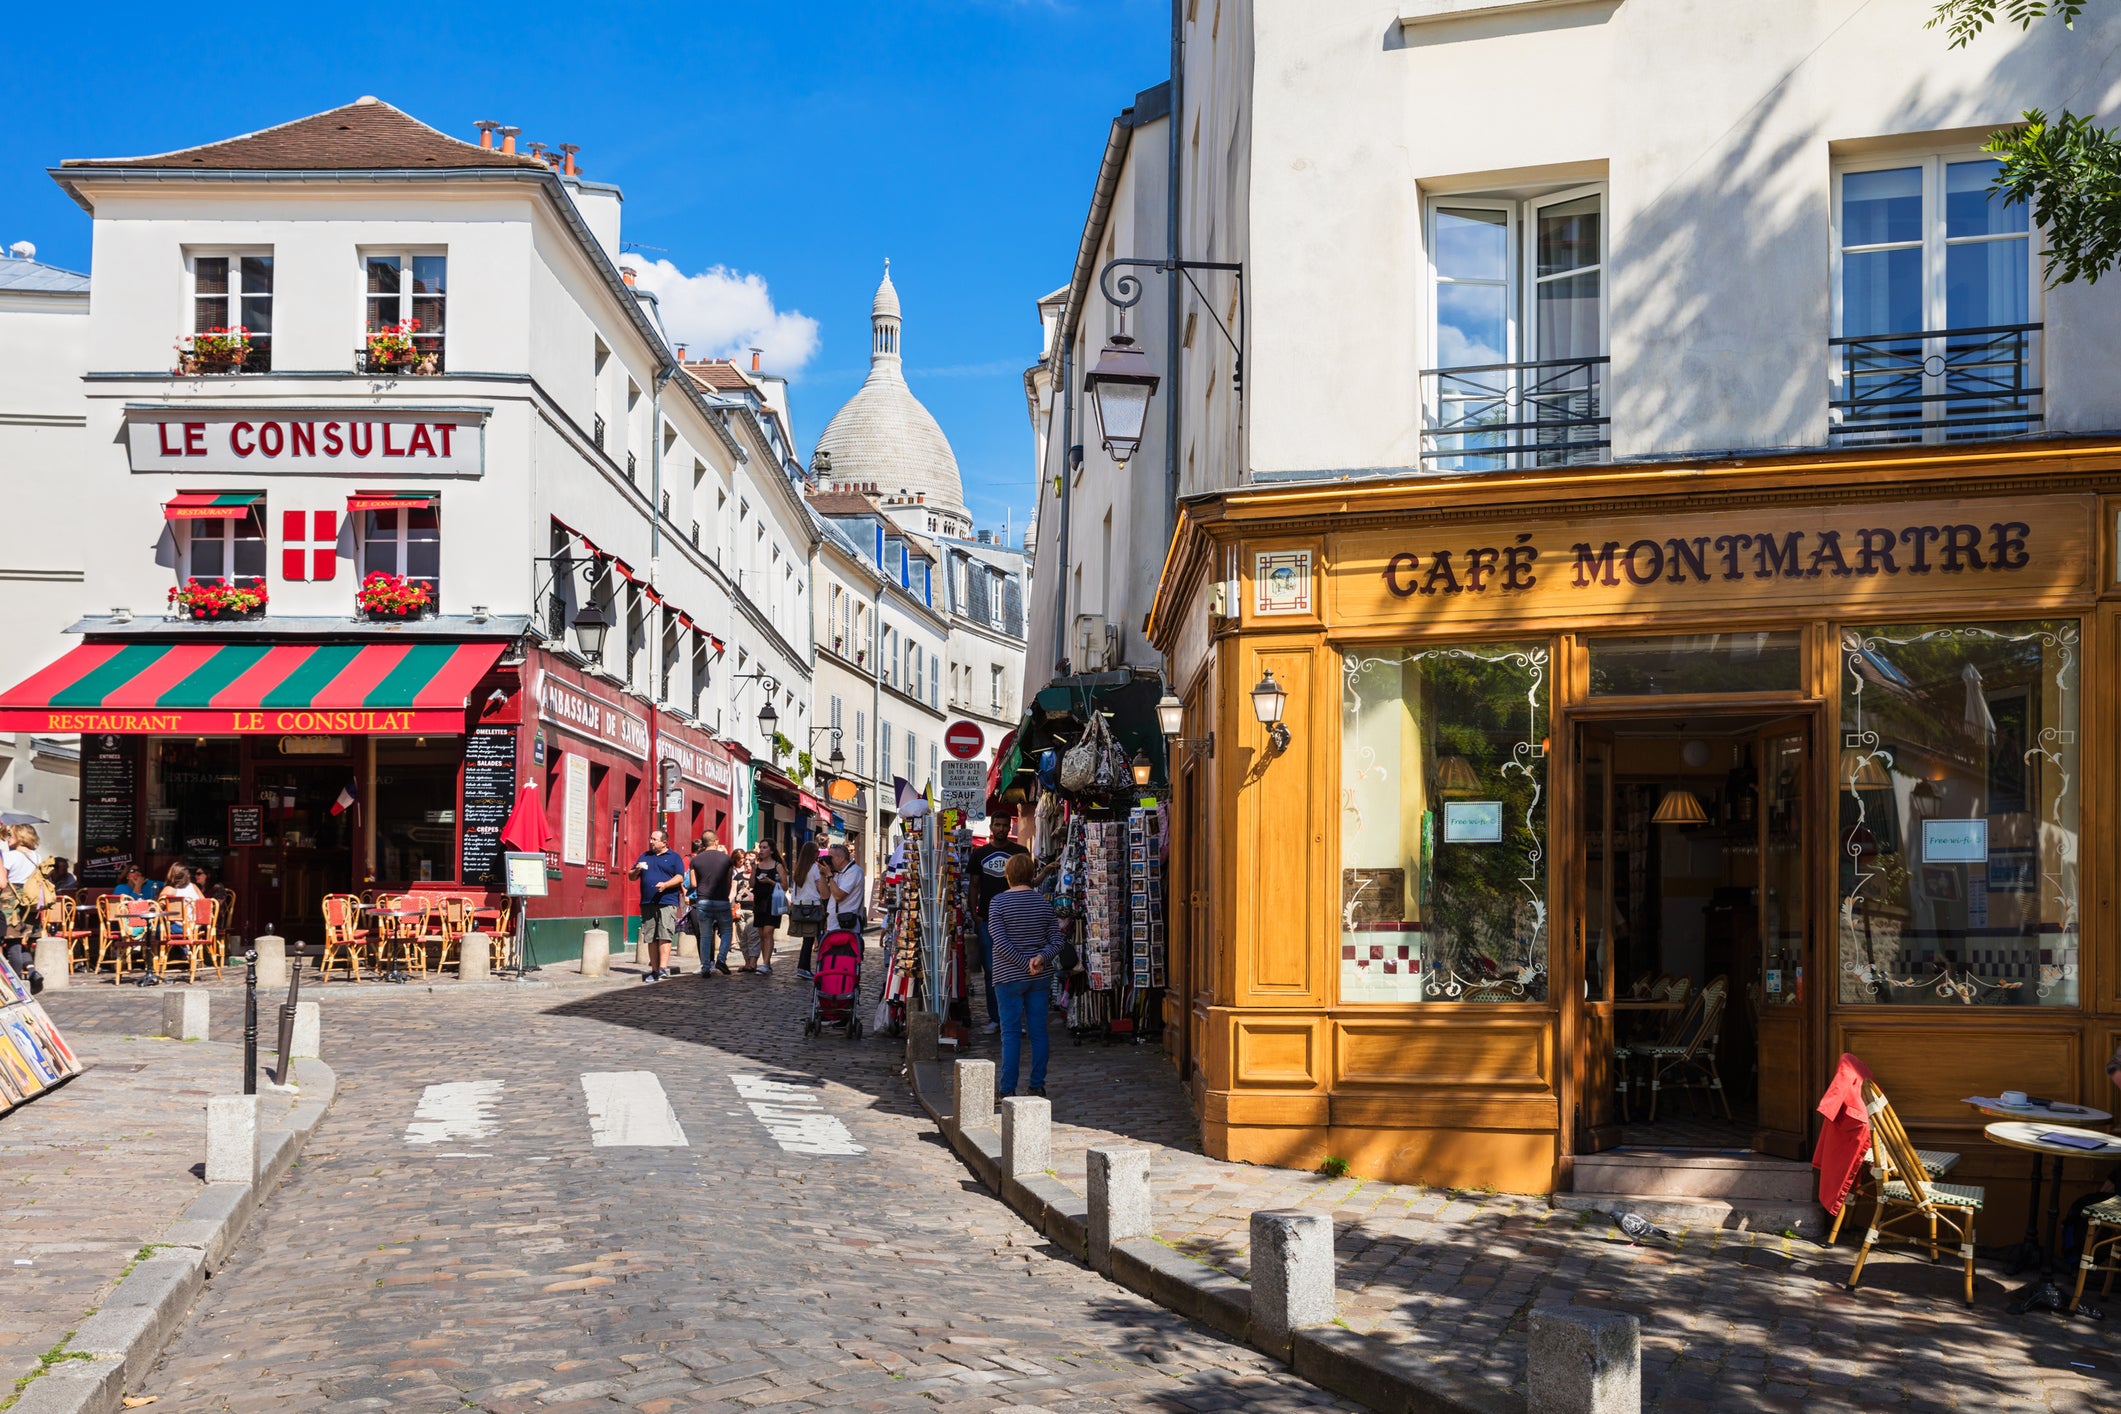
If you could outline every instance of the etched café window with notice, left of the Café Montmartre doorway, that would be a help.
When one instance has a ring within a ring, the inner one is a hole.
[[[1340,1001],[1546,1001],[1546,644],[1351,655]]]

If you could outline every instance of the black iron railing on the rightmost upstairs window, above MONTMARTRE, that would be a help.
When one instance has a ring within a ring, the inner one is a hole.
[[[1828,339],[1830,441],[1862,447],[2040,430],[2040,324]]]

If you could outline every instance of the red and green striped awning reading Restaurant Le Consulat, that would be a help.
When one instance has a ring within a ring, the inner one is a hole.
[[[0,731],[450,736],[498,642],[89,642],[0,693]]]

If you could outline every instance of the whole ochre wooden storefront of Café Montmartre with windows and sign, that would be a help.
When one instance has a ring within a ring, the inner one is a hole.
[[[1960,1100],[2100,1104],[2121,1045],[2117,515],[2110,441],[1188,502],[1150,628],[1215,738],[1173,761],[1167,1001],[1207,1151],[1567,1189],[1661,929],[1726,977],[1746,1145],[1809,1155],[1852,1051],[2021,1187]],[[1650,825],[1680,786],[1707,823]],[[1726,869],[1684,907],[1682,856]]]

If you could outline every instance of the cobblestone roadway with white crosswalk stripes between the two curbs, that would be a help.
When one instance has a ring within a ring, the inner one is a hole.
[[[148,1376],[157,1408],[1349,1408],[1052,1253],[935,1143],[895,1043],[802,1039],[787,967],[314,996],[337,1100]],[[781,1085],[747,1104],[732,1077]],[[585,1090],[632,1143],[592,1138]],[[863,1153],[783,1149],[834,1147],[812,1111]],[[670,1117],[685,1147],[641,1147]]]

